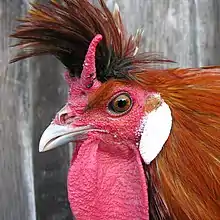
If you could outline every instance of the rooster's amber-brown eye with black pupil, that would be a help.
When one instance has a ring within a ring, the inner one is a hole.
[[[114,114],[125,113],[132,106],[131,98],[128,94],[123,93],[115,97],[108,105],[108,109]]]

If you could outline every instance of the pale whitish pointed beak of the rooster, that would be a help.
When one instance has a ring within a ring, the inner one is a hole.
[[[39,151],[48,151],[69,142],[82,140],[90,128],[90,126],[71,127],[69,125],[51,124],[40,139]]]

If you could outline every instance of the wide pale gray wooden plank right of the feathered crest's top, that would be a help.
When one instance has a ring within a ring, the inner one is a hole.
[[[195,9],[190,0],[108,0],[117,2],[131,33],[144,29],[143,49],[162,52],[180,66],[196,66]]]

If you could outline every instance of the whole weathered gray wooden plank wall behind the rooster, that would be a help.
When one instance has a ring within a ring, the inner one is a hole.
[[[106,2],[112,8],[116,0]],[[117,2],[129,32],[144,28],[144,50],[182,67],[220,64],[219,0]],[[38,153],[40,135],[65,103],[63,67],[47,56],[8,65],[8,35],[28,7],[26,0],[0,0],[0,219],[69,220],[70,151]]]

